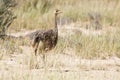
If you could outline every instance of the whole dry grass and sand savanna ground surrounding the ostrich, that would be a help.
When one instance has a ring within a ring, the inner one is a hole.
[[[21,0],[14,9],[17,19],[9,35],[23,36],[54,27],[59,15],[57,46],[46,53],[46,67],[34,56],[29,41],[0,39],[0,80],[119,80],[119,0]],[[101,15],[102,29],[86,29],[88,13]],[[37,67],[35,65],[38,65]]]

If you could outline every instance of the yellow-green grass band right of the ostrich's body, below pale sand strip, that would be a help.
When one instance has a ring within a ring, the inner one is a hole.
[[[106,59],[112,56],[120,57],[120,33],[107,31],[102,35],[67,34],[67,37],[59,39],[55,50],[65,53],[72,49],[81,58]],[[70,52],[67,52],[69,54]]]

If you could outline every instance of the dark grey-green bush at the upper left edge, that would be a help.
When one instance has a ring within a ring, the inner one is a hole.
[[[0,0],[0,35],[5,35],[7,28],[16,18],[12,8],[16,6],[14,0]]]

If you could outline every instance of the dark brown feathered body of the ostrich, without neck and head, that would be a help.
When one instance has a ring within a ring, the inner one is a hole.
[[[56,30],[42,31],[35,36],[32,42],[35,55],[40,51],[48,51],[54,48],[58,41],[58,32]]]

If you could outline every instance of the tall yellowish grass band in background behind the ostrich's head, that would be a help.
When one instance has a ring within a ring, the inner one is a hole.
[[[88,13],[97,12],[104,25],[119,26],[119,0],[21,0],[15,14],[18,16],[12,30],[50,28],[53,25],[53,11],[58,8],[74,22],[87,22]],[[51,26],[50,26],[51,25]]]

